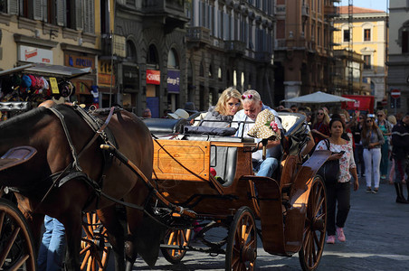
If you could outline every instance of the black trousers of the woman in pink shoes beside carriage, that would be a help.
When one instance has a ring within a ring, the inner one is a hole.
[[[344,228],[350,209],[351,184],[350,182],[337,182],[327,184],[327,234],[335,235],[336,226]],[[337,204],[338,203],[338,204]],[[338,208],[337,208],[338,205]],[[336,210],[337,215],[336,215]],[[337,220],[336,220],[337,217]]]

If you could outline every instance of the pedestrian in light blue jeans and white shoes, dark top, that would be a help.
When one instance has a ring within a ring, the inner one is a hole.
[[[380,181],[381,146],[385,143],[385,139],[381,130],[376,126],[374,114],[366,116],[361,139],[366,167],[366,192],[377,193]],[[374,190],[372,190],[372,177],[374,177]]]

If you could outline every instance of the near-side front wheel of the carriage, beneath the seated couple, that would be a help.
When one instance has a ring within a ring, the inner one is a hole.
[[[254,215],[242,207],[234,215],[227,238],[225,270],[254,270],[257,234]]]

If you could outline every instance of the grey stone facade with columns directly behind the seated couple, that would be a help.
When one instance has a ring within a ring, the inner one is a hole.
[[[274,95],[274,1],[192,0],[186,29],[186,99],[200,110],[224,89],[256,89],[271,106]]]

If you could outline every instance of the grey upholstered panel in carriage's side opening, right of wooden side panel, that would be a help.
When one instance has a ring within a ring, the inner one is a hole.
[[[237,147],[212,145],[210,152],[210,166],[216,171],[216,176],[222,178],[222,185],[230,186],[236,174]]]

